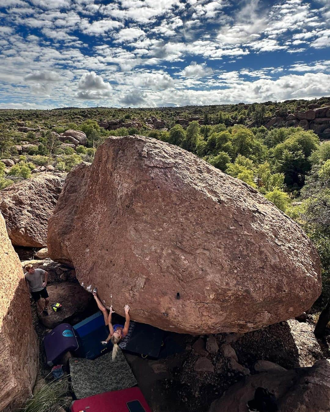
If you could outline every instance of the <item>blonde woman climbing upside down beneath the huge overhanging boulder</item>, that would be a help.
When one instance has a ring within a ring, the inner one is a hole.
[[[107,311],[106,307],[102,304],[102,302],[99,300],[99,298],[97,296],[97,288],[94,288],[93,296],[94,296],[94,299],[96,300],[97,306],[102,311],[103,316],[104,316],[104,321],[105,321],[106,325],[109,326],[109,330],[110,330],[109,336],[106,338],[106,340],[102,341],[101,343],[103,345],[106,345],[109,342],[109,340],[111,340],[111,342],[113,344],[112,360],[114,360],[117,353],[118,353],[118,343],[120,342],[120,339],[125,337],[128,333],[128,328],[130,326],[130,314],[128,312],[130,310],[130,307],[128,305],[125,305],[125,307],[124,307],[124,309],[125,309],[125,325],[120,325],[120,324],[112,325],[111,316],[112,316],[113,313],[115,313],[115,311],[112,309],[112,305],[110,307],[110,311],[109,311],[109,314],[108,314],[108,311]]]

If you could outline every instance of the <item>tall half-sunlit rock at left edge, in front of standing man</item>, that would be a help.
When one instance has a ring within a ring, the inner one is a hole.
[[[0,213],[0,410],[16,410],[32,393],[39,344],[19,258]]]

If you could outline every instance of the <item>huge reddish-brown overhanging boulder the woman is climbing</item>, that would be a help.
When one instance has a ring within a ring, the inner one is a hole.
[[[67,176],[47,246],[107,306],[123,314],[127,303],[132,319],[164,330],[247,332],[321,293],[318,255],[295,222],[246,183],[142,136],[109,138]]]

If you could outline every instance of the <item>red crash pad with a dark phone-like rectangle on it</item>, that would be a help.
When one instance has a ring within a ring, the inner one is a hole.
[[[131,404],[132,412],[142,412],[143,410],[151,412],[142,392],[137,386],[121,391],[99,393],[99,395],[75,400],[71,405],[71,412],[130,412],[127,402],[134,400],[139,400],[143,409]]]

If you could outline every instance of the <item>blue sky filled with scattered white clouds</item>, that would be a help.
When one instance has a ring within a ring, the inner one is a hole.
[[[0,108],[330,95],[329,0],[1,0]]]

